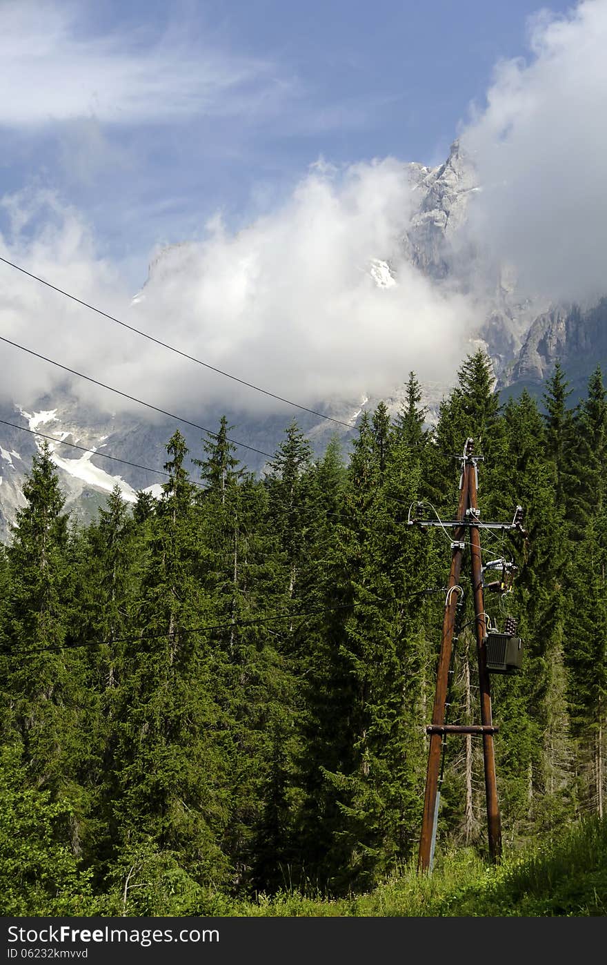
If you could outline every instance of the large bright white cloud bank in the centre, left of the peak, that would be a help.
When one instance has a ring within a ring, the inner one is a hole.
[[[306,405],[385,393],[412,368],[451,375],[469,323],[463,302],[443,299],[405,262],[394,287],[372,278],[372,259],[397,250],[408,213],[396,160],[339,174],[320,166],[244,231],[215,222],[206,242],[166,252],[137,312],[165,341]],[[164,361],[176,391],[185,379],[184,395],[276,407],[212,372]]]

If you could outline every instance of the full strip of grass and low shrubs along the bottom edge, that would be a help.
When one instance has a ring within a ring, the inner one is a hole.
[[[13,850],[7,848],[7,854],[12,855]],[[235,899],[221,891],[201,888],[179,867],[167,866],[166,862],[155,871],[154,874],[154,867],[149,866],[140,889],[130,896],[129,915],[604,917],[607,916],[607,818],[602,821],[589,818],[552,837],[546,836],[533,848],[506,854],[497,867],[487,865],[474,849],[459,848],[437,853],[431,874],[418,875],[411,864],[368,894],[335,899],[327,899],[312,890],[308,894],[284,891],[275,896]],[[64,884],[53,896],[39,896],[35,888],[30,896],[21,896],[23,908],[16,914],[112,917],[123,914],[124,882],[120,875],[117,888],[99,896],[92,894],[88,883],[80,894],[76,880],[68,875],[67,881],[69,892]]]

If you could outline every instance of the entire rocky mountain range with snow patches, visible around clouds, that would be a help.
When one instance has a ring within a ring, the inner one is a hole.
[[[411,217],[400,238],[399,250],[378,252],[378,257],[372,260],[370,273],[375,284],[379,288],[398,284],[395,265],[404,256],[435,286],[476,299],[479,326],[471,350],[479,345],[486,348],[501,388],[512,392],[523,385],[540,385],[553,371],[557,358],[563,362],[567,376],[574,383],[582,384],[597,362],[607,360],[607,298],[585,308],[542,304],[538,299],[521,297],[508,266],[496,268],[486,264],[483,252],[466,238],[463,230],[469,206],[482,185],[457,142],[443,164],[428,168],[412,163],[407,165],[407,174],[413,198]],[[179,270],[188,251],[187,244],[171,246],[151,264],[150,276],[157,279],[162,274],[172,275]],[[145,288],[135,296],[133,304],[145,298]],[[428,421],[432,422],[450,386],[425,383],[423,388]],[[402,396],[400,386],[383,397],[393,415],[400,408]],[[344,400],[332,410],[327,409],[326,414],[355,423],[365,408],[374,408],[378,401],[366,397]],[[194,414],[192,421],[200,421],[212,431],[220,415],[219,412]],[[252,418],[243,423],[239,418],[233,435],[254,448],[272,453],[293,415],[317,453],[324,450],[332,433],[342,437],[345,448],[354,434],[354,429],[292,410],[262,421]],[[141,488],[159,493],[163,477],[141,467],[162,468],[166,460],[164,447],[174,428],[169,423],[150,424],[125,415],[117,417],[110,412],[86,410],[66,393],[36,400],[27,410],[16,405],[0,409],[0,539],[10,538],[15,511],[23,504],[24,473],[40,444],[35,432],[53,440],[51,446],[66,493],[67,509],[76,517],[90,519],[116,483],[129,502],[135,501],[136,491]],[[202,433],[180,428],[191,455],[200,457]],[[83,450],[93,450],[95,455]],[[101,455],[104,452],[133,465],[105,458]],[[262,470],[268,461],[267,456],[246,450],[238,450],[236,455],[255,471]]]

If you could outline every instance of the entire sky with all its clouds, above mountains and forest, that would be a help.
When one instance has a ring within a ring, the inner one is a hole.
[[[605,292],[605,49],[607,0],[0,0],[0,255],[313,408],[445,385],[504,279]],[[478,190],[450,243],[483,252],[459,287],[401,244],[406,162],[455,136]],[[174,411],[270,404],[6,265],[0,327]],[[10,400],[61,375],[10,346],[0,369]]]

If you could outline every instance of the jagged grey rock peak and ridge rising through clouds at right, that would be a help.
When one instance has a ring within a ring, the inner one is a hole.
[[[499,389],[540,386],[557,359],[574,397],[583,393],[597,364],[607,372],[607,297],[579,306],[523,296],[513,270],[488,265],[466,237],[469,206],[483,186],[458,142],[437,168],[410,164],[409,178],[419,202],[401,239],[402,250],[438,285],[478,296],[483,315],[477,339],[492,359]],[[431,410],[431,396],[428,402]]]

